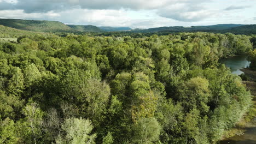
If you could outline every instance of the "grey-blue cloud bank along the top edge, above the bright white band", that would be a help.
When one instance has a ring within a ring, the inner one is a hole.
[[[5,2],[6,1],[6,2]],[[8,1],[8,4],[6,4]],[[12,2],[13,1],[13,2]],[[12,2],[12,3],[10,3]],[[166,5],[177,3],[198,4],[205,2],[203,0],[4,0],[0,4],[0,10],[6,9],[24,9],[25,13],[38,13],[47,11],[63,11],[71,8],[82,9],[160,9]]]

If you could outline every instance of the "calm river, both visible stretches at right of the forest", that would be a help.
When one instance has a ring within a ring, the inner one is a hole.
[[[227,67],[230,68],[232,74],[240,75],[243,72],[240,70],[242,68],[249,67],[251,62],[247,61],[247,56],[234,56],[228,57],[225,59],[220,60],[220,63],[224,63]],[[220,144],[256,144],[256,117],[253,119],[252,127],[246,128],[245,133],[242,135],[236,135],[230,137],[228,139],[224,139],[220,141]]]

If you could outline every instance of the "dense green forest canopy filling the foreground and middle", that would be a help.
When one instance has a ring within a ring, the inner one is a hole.
[[[218,59],[251,37],[66,35],[0,43],[0,143],[216,143],[251,104]]]

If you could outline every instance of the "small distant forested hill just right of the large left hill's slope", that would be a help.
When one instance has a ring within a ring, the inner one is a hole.
[[[92,25],[67,25],[79,32],[104,32],[102,29]]]

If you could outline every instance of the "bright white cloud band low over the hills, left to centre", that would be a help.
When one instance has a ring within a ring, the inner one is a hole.
[[[133,12],[132,12],[133,13]],[[147,15],[147,13],[145,14]],[[31,20],[55,20],[66,24],[75,25],[95,25],[113,27],[150,28],[161,26],[179,25],[178,21],[166,19],[164,17],[148,17],[138,19],[130,17],[130,12],[120,10],[91,10],[72,9],[54,13],[24,13],[24,10],[0,10],[0,18],[10,19],[31,19]]]

